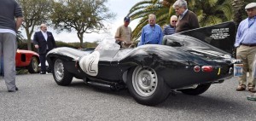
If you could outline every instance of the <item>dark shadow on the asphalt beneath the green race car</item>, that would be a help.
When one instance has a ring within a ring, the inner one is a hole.
[[[127,103],[127,106],[132,103],[137,105],[137,107],[144,107],[143,105],[138,104],[131,97],[128,89],[122,89],[119,91],[97,89],[84,84],[83,80],[73,81],[72,84],[68,85],[68,88],[79,89],[82,90],[82,92],[91,91],[96,94],[99,93],[100,95],[109,95],[110,99],[115,97],[120,101]],[[253,112],[256,112],[256,108],[254,108],[254,106],[249,107],[255,104],[253,103],[254,101],[247,101],[246,95],[245,97],[238,96],[238,99],[236,99],[237,97],[232,97],[225,93],[218,94],[219,92],[216,92],[216,90],[209,89],[207,91],[208,92],[201,95],[184,95],[181,92],[177,92],[175,95],[170,94],[166,101],[148,108],[157,108],[160,110],[165,109],[169,112],[177,112],[177,114],[179,114],[178,112],[189,112],[196,114],[200,113],[200,115],[204,116],[207,113],[210,113],[213,117],[225,115],[225,113],[229,112],[226,117],[233,119],[246,118],[247,115],[253,115]],[[241,116],[241,112],[245,112],[247,115]]]

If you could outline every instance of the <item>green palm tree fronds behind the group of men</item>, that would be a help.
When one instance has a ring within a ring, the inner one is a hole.
[[[172,4],[176,0],[145,0],[136,3],[128,15],[132,20],[140,19],[138,25],[132,32],[133,40],[140,37],[143,26],[148,24],[148,14],[157,16],[156,23],[165,26],[169,23],[170,16],[175,14]],[[224,21],[232,20],[231,0],[189,0],[188,8],[198,15],[201,26],[210,26]]]

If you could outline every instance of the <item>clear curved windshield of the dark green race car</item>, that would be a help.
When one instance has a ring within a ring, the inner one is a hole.
[[[120,45],[115,43],[114,38],[105,38],[101,43],[96,47],[95,50],[119,50]]]

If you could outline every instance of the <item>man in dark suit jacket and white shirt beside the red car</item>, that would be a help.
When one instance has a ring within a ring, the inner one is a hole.
[[[46,73],[46,54],[49,50],[54,49],[55,45],[55,38],[53,37],[51,32],[47,32],[47,26],[42,24],[40,26],[41,31],[35,32],[33,43],[35,48],[38,49],[38,54],[41,62],[41,72],[40,74]],[[50,68],[49,68],[50,69]],[[50,70],[49,70],[50,71]]]

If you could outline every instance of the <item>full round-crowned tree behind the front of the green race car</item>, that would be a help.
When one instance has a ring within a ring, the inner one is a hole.
[[[106,29],[104,22],[114,18],[105,5],[108,0],[59,0],[54,3],[51,20],[58,32],[76,31],[83,46],[84,33]]]

